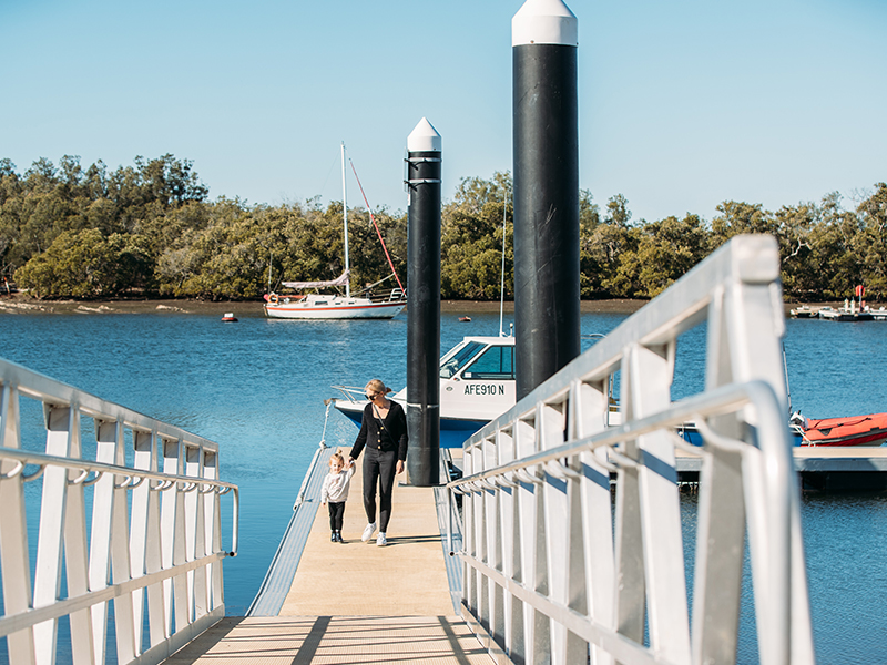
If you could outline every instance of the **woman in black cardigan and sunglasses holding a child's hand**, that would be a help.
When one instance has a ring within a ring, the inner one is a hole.
[[[389,400],[391,389],[386,388],[379,379],[367,383],[369,403],[364,409],[360,432],[351,448],[350,458],[356,460],[366,448],[364,456],[364,510],[367,513],[367,526],[360,540],[373,538],[376,532],[376,487],[379,493],[379,535],[377,545],[388,544],[386,532],[391,519],[391,493],[395,475],[404,471],[407,459],[407,416],[404,408]]]

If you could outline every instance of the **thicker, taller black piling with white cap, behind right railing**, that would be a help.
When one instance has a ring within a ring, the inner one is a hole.
[[[580,352],[578,32],[561,0],[511,20],[518,399]]]

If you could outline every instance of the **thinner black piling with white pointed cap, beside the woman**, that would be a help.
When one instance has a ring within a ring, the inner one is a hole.
[[[441,139],[425,117],[407,137],[407,470],[440,482]]]

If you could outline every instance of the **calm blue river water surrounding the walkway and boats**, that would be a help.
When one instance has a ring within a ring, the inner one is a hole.
[[[286,528],[323,436],[330,386],[378,377],[399,388],[406,378],[406,315],[275,321],[257,305],[237,309],[241,321],[233,325],[215,315],[0,315],[3,358],[221,443],[222,478],[241,487],[239,555],[225,563],[234,615],[253,600]],[[463,335],[498,334],[498,315],[472,318],[443,316],[442,350]],[[582,332],[605,334],[623,318],[584,315]],[[887,350],[887,324],[789,320],[787,327],[794,408],[813,417],[887,410],[877,360]],[[686,335],[679,349],[675,398],[702,386],[703,332]],[[356,433],[330,413],[327,443],[350,444]],[[683,508],[692,528],[693,499]],[[819,662],[887,662],[887,494],[805,495],[803,511]],[[746,606],[744,625],[750,617]],[[741,655],[753,662],[754,645],[744,641]]]

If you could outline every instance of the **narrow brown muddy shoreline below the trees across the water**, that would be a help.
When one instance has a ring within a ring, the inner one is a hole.
[[[650,300],[632,300],[615,298],[609,300],[582,300],[582,314],[633,314]],[[798,303],[785,303],[786,317],[788,310]],[[843,301],[807,303],[816,309],[824,306],[842,307]],[[874,305],[874,304],[873,304]],[[506,314],[514,313],[514,303],[506,301]],[[262,315],[261,300],[212,301],[192,299],[106,299],[106,300],[38,300],[22,294],[0,296],[0,316],[4,314],[201,314],[222,316],[228,311],[235,316],[247,314]],[[498,301],[479,300],[442,300],[441,315],[492,314],[499,311]]]

